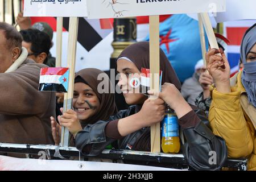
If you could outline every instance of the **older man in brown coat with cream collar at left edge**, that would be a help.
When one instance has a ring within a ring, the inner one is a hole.
[[[0,22],[0,142],[53,144],[55,93],[38,92],[40,68],[27,59],[22,35]]]

